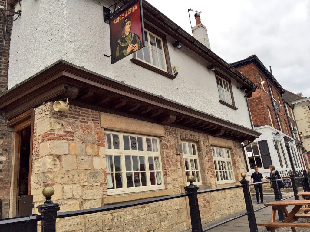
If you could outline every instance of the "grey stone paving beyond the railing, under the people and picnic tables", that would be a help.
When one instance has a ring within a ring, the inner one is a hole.
[[[292,194],[291,193],[286,193],[286,194],[283,193],[283,197],[287,197],[289,195],[292,195]],[[263,206],[263,204],[257,204],[256,203],[255,194],[252,195],[252,198],[253,198],[253,200],[255,200],[253,202],[253,208],[254,209],[257,209],[257,208],[260,208]],[[275,201],[274,195],[264,195],[263,199],[264,199],[264,203]],[[289,198],[289,200],[294,200],[294,198]],[[293,208],[293,206],[291,206],[291,207],[289,206],[289,207],[287,207],[287,210],[290,212],[290,210],[292,208]],[[221,221],[224,221],[226,219],[240,215],[242,213],[246,213],[246,210],[241,211],[241,212],[236,213],[236,214],[228,215],[226,217],[219,218],[215,221],[211,221],[211,222],[202,224],[202,228],[204,229],[206,227],[215,225]],[[271,220],[271,206],[268,206],[268,207],[263,208],[259,211],[256,211],[255,212],[255,218],[256,218],[257,223],[270,221]],[[278,215],[276,216],[276,220],[279,220]],[[299,219],[298,222],[305,222],[305,220]],[[191,232],[191,231],[192,230],[187,230],[187,232]],[[227,222],[221,226],[217,226],[214,229],[208,230],[208,232],[240,232],[240,231],[250,232],[249,221],[248,221],[247,216],[240,217],[240,218],[235,219],[233,221],[229,221],[229,222]],[[266,230],[266,227],[258,226],[258,231],[259,232],[266,232],[267,230]],[[276,231],[286,232],[286,231],[292,231],[292,230],[291,230],[291,228],[281,228],[280,230],[276,230]],[[296,231],[297,232],[306,232],[306,231],[309,232],[310,230],[309,230],[309,228],[296,228]]]

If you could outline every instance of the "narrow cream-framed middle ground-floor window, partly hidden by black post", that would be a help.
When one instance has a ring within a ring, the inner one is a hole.
[[[193,175],[195,177],[195,184],[201,185],[202,182],[196,144],[182,141],[182,151],[186,177],[188,175]]]

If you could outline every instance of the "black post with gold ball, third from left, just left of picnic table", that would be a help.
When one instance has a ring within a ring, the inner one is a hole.
[[[246,178],[245,172],[241,173],[241,177],[242,177],[242,180],[239,182],[241,183],[242,189],[243,189],[244,201],[246,203],[246,212],[249,213],[248,221],[249,221],[250,232],[258,232],[254,208],[253,208],[253,202],[252,202],[251,193],[249,189],[250,181],[245,179]]]

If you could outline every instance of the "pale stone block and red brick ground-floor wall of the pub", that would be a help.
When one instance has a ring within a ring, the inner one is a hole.
[[[177,154],[176,149],[182,139],[180,133],[192,133],[197,140],[203,184],[200,189],[223,186],[216,183],[211,146],[230,148],[236,181],[246,169],[241,144],[212,136],[213,142],[210,142],[210,135],[165,126],[164,134],[160,136],[165,189],[150,191],[147,195],[110,196],[106,187],[104,128],[100,125],[100,114],[76,106],[70,106],[68,112],[55,112],[52,102],[35,109],[31,177],[35,207],[44,202],[42,189],[45,186],[55,188],[52,200],[61,204],[61,212],[154,197],[159,192],[165,192],[162,195],[184,192],[183,155]],[[245,208],[242,190],[201,194],[199,207],[203,221],[235,213]],[[190,226],[188,212],[187,200],[180,198],[113,212],[62,218],[57,220],[57,231],[116,232],[124,228],[139,232],[185,231]],[[36,208],[33,213],[37,213]]]

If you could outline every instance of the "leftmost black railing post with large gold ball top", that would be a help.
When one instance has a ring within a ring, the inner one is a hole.
[[[41,232],[56,231],[56,215],[57,211],[60,209],[60,204],[53,203],[51,201],[51,197],[54,195],[54,192],[55,189],[51,186],[45,187],[42,191],[46,201],[37,207],[39,213],[41,213],[43,217]]]

